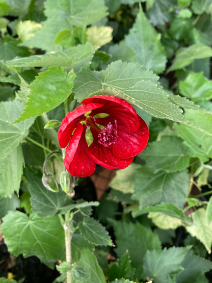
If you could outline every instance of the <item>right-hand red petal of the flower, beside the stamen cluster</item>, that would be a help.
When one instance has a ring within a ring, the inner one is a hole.
[[[140,127],[136,132],[129,131],[125,125],[117,123],[116,141],[112,145],[112,151],[117,158],[129,158],[141,153],[147,145],[149,130],[144,120],[138,116]]]

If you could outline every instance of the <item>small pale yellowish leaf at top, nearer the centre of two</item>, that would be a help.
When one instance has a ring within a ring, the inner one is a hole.
[[[112,40],[113,29],[111,27],[90,27],[87,29],[87,40],[90,42],[94,49],[99,49],[104,44]]]

